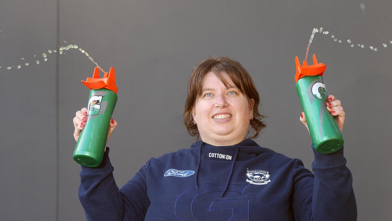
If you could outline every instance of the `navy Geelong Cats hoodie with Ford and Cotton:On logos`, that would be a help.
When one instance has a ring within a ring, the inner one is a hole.
[[[301,160],[260,147],[202,141],[151,158],[120,190],[108,154],[82,166],[79,199],[87,220],[356,220],[352,175],[343,147]]]

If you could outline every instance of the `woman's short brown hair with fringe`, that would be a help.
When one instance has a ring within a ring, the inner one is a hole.
[[[223,76],[223,74],[227,74],[233,81],[234,85],[236,85],[242,94],[248,98],[249,107],[252,107],[252,102],[250,99],[254,99],[254,117],[252,120],[250,120],[250,126],[252,127],[251,129],[253,129],[254,134],[253,136],[250,136],[250,138],[257,138],[261,129],[266,127],[263,118],[267,117],[259,113],[259,93],[257,92],[256,87],[254,87],[253,80],[249,76],[247,70],[245,70],[245,68],[243,68],[239,62],[225,56],[219,56],[216,58],[209,57],[204,61],[201,61],[192,70],[192,74],[188,83],[188,97],[184,109],[184,125],[188,133],[191,136],[196,136],[196,140],[199,139],[199,131],[193,122],[192,108],[201,97],[203,79],[209,72],[213,72],[215,76],[218,77],[218,79],[220,79],[220,81],[225,85],[225,87],[229,87],[229,84]]]

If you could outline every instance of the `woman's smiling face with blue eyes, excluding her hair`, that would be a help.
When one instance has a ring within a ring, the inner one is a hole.
[[[214,73],[205,76],[201,98],[192,111],[201,140],[211,145],[234,145],[245,140],[253,113],[247,97],[227,74],[223,76],[228,88]]]

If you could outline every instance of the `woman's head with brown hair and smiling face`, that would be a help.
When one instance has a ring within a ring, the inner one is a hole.
[[[257,138],[266,127],[263,118],[267,116],[259,113],[259,103],[253,80],[239,62],[210,57],[189,78],[184,125],[196,140],[201,136],[210,144],[238,144],[250,129],[254,131],[250,138]]]

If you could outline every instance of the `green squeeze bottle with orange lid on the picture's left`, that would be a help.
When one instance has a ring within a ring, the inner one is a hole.
[[[109,74],[105,72],[103,78],[99,77],[99,70],[95,68],[93,77],[82,83],[90,89],[87,120],[76,143],[73,159],[83,166],[96,167],[102,162],[109,122],[117,102],[114,68],[110,68]]]

